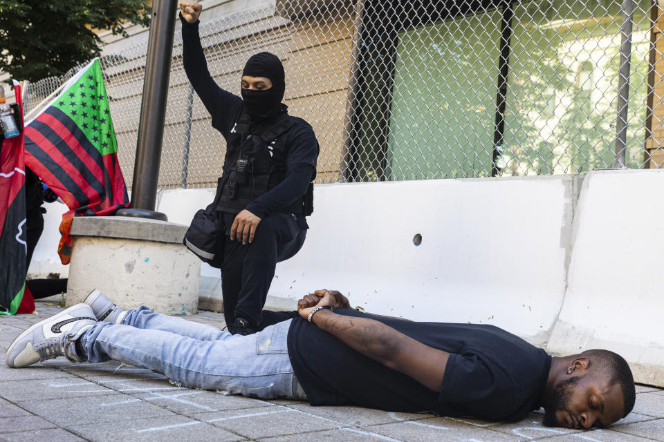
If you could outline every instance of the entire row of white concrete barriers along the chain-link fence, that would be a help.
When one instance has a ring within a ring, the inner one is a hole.
[[[490,323],[557,354],[613,349],[638,381],[664,386],[662,193],[661,170],[318,185],[307,240],[277,265],[268,305],[340,289],[378,314]],[[157,209],[188,224],[213,197],[163,191]],[[46,218],[31,273],[57,262],[59,214]],[[203,265],[201,287],[219,298],[220,286]]]

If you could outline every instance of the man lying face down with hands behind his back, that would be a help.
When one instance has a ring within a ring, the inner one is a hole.
[[[21,333],[7,365],[113,359],[205,390],[489,421],[519,421],[544,407],[545,425],[571,428],[614,423],[636,398],[629,366],[613,352],[552,358],[492,325],[361,313],[338,291],[305,296],[297,312],[264,315],[273,324],[249,336],[145,306],[125,311],[98,290],[85,302]]]

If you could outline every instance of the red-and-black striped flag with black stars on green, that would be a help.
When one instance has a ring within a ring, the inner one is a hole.
[[[74,216],[112,215],[129,206],[99,59],[26,124],[25,135],[26,164],[71,209],[62,215],[58,247],[68,264]]]

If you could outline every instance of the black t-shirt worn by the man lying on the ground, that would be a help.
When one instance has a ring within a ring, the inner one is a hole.
[[[416,323],[355,310],[421,343],[450,352],[434,392],[389,369],[301,318],[288,330],[288,354],[311,405],[359,405],[399,412],[436,412],[518,421],[540,407],[551,356],[492,325]]]

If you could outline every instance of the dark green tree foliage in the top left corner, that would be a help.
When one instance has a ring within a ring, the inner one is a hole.
[[[149,26],[148,0],[0,0],[0,71],[38,81],[100,54],[92,29]]]

